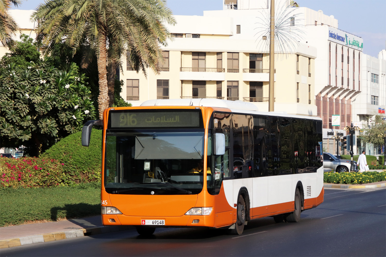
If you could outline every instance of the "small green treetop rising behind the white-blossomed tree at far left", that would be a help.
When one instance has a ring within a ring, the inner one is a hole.
[[[0,60],[0,68],[6,68],[14,63],[15,67],[25,69],[30,65],[30,62],[38,62],[40,52],[36,45],[33,44],[33,39],[28,35],[20,35],[21,42],[16,41],[14,47],[10,48],[10,53],[5,54]]]

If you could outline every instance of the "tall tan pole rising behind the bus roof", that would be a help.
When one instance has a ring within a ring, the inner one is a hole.
[[[274,68],[275,68],[275,0],[271,0],[271,25],[269,27],[269,99],[268,111],[274,111],[275,94],[274,94]]]

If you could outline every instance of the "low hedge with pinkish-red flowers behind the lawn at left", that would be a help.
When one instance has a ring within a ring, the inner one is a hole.
[[[64,163],[50,158],[0,158],[0,187],[54,187],[100,181],[100,175],[93,173],[74,172]]]

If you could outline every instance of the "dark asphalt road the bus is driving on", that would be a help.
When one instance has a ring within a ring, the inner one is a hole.
[[[298,223],[253,220],[239,236],[204,228],[135,230],[24,245],[1,256],[386,256],[386,189],[325,189]]]

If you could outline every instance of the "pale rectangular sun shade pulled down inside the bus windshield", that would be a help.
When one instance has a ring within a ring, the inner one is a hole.
[[[135,159],[201,159],[203,136],[198,134],[177,136],[136,136]]]

